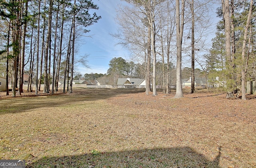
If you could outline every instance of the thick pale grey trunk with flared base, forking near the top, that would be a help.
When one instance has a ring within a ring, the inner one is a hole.
[[[183,98],[182,80],[181,80],[181,52],[182,36],[184,27],[184,7],[185,2],[181,0],[182,8],[180,14],[180,0],[176,0],[176,39],[177,39],[177,64],[176,64],[176,94],[174,98]],[[180,20],[181,15],[181,20]]]

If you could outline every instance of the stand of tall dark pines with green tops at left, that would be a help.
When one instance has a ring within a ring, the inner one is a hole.
[[[18,94],[23,92],[25,65],[28,91],[35,81],[38,94],[43,79],[44,92],[50,92],[51,84],[53,94],[62,71],[64,81],[70,80],[64,82],[63,92],[72,92],[74,62],[86,62],[74,57],[76,41],[101,18],[89,12],[97,9],[91,0],[0,0],[0,55],[6,64],[6,71],[1,73],[6,76],[6,94],[9,76],[12,96],[16,96],[16,88]]]

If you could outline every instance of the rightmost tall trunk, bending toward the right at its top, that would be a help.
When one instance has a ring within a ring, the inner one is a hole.
[[[250,25],[251,17],[252,17],[252,6],[253,6],[253,0],[250,1],[250,8],[249,8],[249,13],[248,13],[248,18],[246,21],[246,26],[244,28],[244,40],[243,40],[243,45],[242,45],[242,100],[246,100],[245,96],[245,82],[246,82],[246,64],[245,64],[245,51],[246,51],[246,40],[247,40],[247,33],[248,33],[248,28]],[[249,57],[249,56],[248,56]]]

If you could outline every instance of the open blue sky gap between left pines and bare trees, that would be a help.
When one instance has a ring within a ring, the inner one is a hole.
[[[109,68],[109,61],[114,57],[122,57],[128,59],[130,53],[121,45],[117,45],[118,40],[114,39],[110,33],[117,31],[115,22],[116,9],[126,2],[121,0],[93,0],[94,4],[99,7],[99,10],[93,10],[102,18],[94,25],[88,27],[89,33],[83,37],[82,45],[79,47],[78,55],[88,55],[88,65],[90,68],[78,66],[78,71],[84,75],[86,73],[102,73],[106,74]]]

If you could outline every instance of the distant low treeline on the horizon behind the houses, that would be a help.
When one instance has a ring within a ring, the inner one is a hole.
[[[109,63],[110,68],[106,74],[90,73],[90,74],[78,74],[74,77],[75,80],[97,80],[102,85],[116,86],[118,78],[145,78],[145,67],[143,64],[134,63],[133,61],[126,61],[125,59],[113,58]],[[165,64],[165,70],[167,69]],[[176,67],[173,63],[169,63],[169,86],[176,85]],[[152,71],[152,68],[151,68]],[[167,76],[163,74],[162,62],[156,63],[156,85],[164,86],[164,78]],[[204,71],[199,68],[195,68],[195,76],[197,78],[205,78]],[[191,77],[191,68],[182,68],[182,79],[189,79]],[[213,81],[212,81],[213,82]]]

